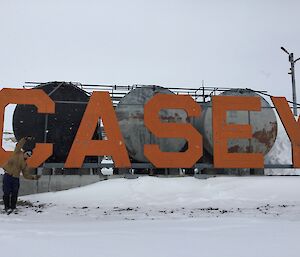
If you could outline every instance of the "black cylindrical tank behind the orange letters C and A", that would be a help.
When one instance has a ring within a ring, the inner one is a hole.
[[[18,104],[13,114],[13,130],[17,140],[32,136],[25,150],[32,150],[35,143],[53,143],[53,155],[47,162],[65,162],[79,128],[89,95],[76,85],[67,82],[49,82],[34,89],[42,89],[56,103],[55,114],[37,113],[34,105]],[[71,102],[71,103],[70,103]],[[85,103],[85,104],[84,104]],[[94,134],[97,139],[97,133]],[[85,162],[96,162],[97,157],[88,157]]]

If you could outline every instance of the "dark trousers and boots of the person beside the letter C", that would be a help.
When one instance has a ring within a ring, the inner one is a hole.
[[[15,209],[18,200],[20,187],[19,178],[13,177],[7,173],[3,176],[3,202],[5,209]]]

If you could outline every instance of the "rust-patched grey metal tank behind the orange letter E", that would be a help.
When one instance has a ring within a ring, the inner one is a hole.
[[[259,94],[247,89],[232,89],[220,94],[222,96],[256,96],[260,97],[261,111],[228,111],[228,124],[249,124],[252,128],[251,139],[229,139],[228,152],[263,153],[266,155],[275,143],[277,121],[270,104]],[[193,120],[193,125],[203,136],[205,150],[213,155],[212,108],[211,102],[201,104],[200,118]]]

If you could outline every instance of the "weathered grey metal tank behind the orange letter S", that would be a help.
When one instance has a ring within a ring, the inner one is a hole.
[[[163,152],[179,152],[185,145],[180,138],[156,138],[144,125],[144,105],[155,94],[173,94],[159,86],[144,86],[131,90],[116,107],[119,126],[130,157],[137,162],[148,162],[144,156],[145,144],[157,144]],[[183,110],[164,109],[160,111],[162,122],[187,122]]]

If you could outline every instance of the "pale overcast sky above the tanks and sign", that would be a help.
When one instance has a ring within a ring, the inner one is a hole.
[[[300,57],[299,15],[298,0],[0,0],[0,88],[204,80],[291,99],[280,46]],[[300,61],[296,83],[299,102]]]

